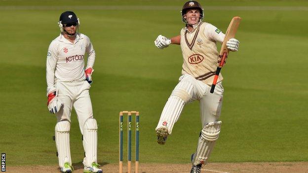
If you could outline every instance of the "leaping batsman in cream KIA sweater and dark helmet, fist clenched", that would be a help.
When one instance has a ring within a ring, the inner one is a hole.
[[[191,156],[191,173],[200,173],[201,166],[207,164],[222,124],[219,121],[224,93],[222,74],[219,74],[214,93],[210,93],[210,90],[218,66],[216,42],[222,43],[225,34],[212,24],[202,22],[203,9],[197,1],[187,1],[181,12],[186,26],[180,35],[170,39],[158,35],[154,41],[159,49],[166,48],[169,44],[179,44],[183,54],[182,76],[165,104],[155,130],[157,142],[164,144],[184,106],[198,100],[202,130],[197,148]],[[235,38],[227,41],[227,47],[231,51],[237,51],[238,46],[239,41]]]

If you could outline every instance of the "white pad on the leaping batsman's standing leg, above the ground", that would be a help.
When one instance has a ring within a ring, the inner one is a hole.
[[[207,160],[213,150],[215,141],[219,137],[221,123],[221,121],[215,121],[203,127],[199,137],[197,150],[192,158],[192,165],[207,164]]]

